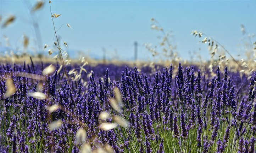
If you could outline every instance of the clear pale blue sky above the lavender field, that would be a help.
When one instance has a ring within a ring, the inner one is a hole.
[[[34,4],[36,1],[30,1]],[[189,59],[189,51],[198,51],[209,59],[207,47],[198,43],[201,39],[190,35],[191,30],[203,31],[222,43],[232,54],[240,54],[244,24],[249,33],[256,33],[256,1],[78,1],[52,0],[52,12],[62,14],[55,18],[56,27],[64,25],[58,34],[68,43],[69,54],[82,51],[95,57],[102,56],[102,47],[107,57],[133,59],[133,43],[138,41],[138,59],[146,60],[151,54],[144,43],[156,45],[159,32],[151,29],[153,17],[166,30],[173,31],[177,51],[183,59]],[[20,45],[22,35],[35,39],[27,6],[22,0],[0,0],[0,13],[5,18],[15,14],[15,23],[0,29],[10,39],[13,48]],[[53,44],[48,0],[43,9],[35,13],[43,44]],[[58,29],[58,28],[57,28]],[[34,41],[32,41],[33,45]],[[51,47],[52,48],[52,47]],[[115,50],[117,52],[115,52]],[[47,51],[45,51],[47,52]]]

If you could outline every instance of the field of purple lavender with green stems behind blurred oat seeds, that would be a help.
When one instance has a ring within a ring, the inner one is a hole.
[[[43,68],[43,64],[0,66],[0,152],[78,153],[75,135],[82,123],[92,150],[109,144],[116,153],[254,153],[256,73],[247,80],[227,68],[223,73],[216,68],[216,76],[210,78],[210,72],[181,65],[177,74],[172,66],[151,73],[151,67],[138,72],[124,66],[87,65],[93,73],[86,86],[81,80],[68,83],[63,70],[56,70],[46,77],[41,91],[50,100],[39,100],[28,93],[36,92],[41,81],[12,75],[16,93],[3,98],[6,74],[41,75]],[[81,78],[87,80],[86,76]],[[122,94],[122,113],[109,102],[115,87]],[[65,111],[49,114],[45,107],[53,104]],[[100,129],[102,111],[126,118],[129,128]],[[50,121],[59,119],[61,127],[50,131]]]

